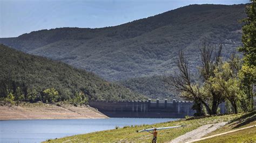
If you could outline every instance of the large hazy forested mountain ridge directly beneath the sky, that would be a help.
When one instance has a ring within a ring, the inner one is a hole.
[[[199,64],[198,45],[224,44],[224,54],[241,45],[245,4],[188,5],[149,18],[104,28],[55,28],[1,38],[20,51],[63,61],[106,80],[172,73],[180,49],[192,71]],[[225,56],[225,55],[224,55]]]

